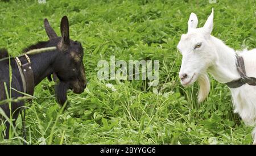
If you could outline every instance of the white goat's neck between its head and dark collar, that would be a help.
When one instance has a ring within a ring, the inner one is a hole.
[[[210,36],[210,40],[216,47],[217,60],[208,71],[214,79],[221,83],[227,83],[240,78],[236,68],[236,52],[229,48],[220,39]]]

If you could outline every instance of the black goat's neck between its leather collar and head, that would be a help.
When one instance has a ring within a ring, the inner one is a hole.
[[[54,72],[53,65],[56,60],[57,53],[57,51],[51,51],[29,55],[31,67],[34,72],[35,86]],[[20,58],[20,61],[27,62],[25,57]]]

